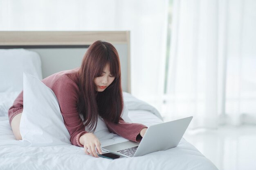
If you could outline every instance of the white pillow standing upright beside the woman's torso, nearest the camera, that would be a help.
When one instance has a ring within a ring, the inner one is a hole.
[[[49,87],[35,76],[24,73],[23,112],[20,134],[30,146],[71,144],[58,100]]]

